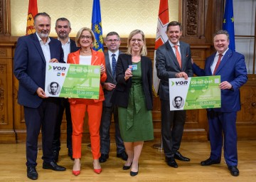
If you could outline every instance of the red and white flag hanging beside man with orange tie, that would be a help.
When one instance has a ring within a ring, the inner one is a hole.
[[[153,67],[153,90],[154,95],[157,96],[157,91],[159,89],[159,78],[156,74],[156,49],[159,48],[160,45],[163,45],[166,41],[168,41],[168,37],[166,36],[166,26],[169,23],[169,6],[168,0],[160,0],[159,5],[159,18],[157,22],[156,29],[156,43],[154,50],[154,67]]]

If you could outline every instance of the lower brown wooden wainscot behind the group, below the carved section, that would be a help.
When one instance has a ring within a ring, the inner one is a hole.
[[[10,38],[9,41],[0,41],[0,143],[24,142],[26,141],[26,125],[23,117],[23,107],[17,103],[18,80],[13,75],[13,58],[17,38]],[[186,41],[186,40],[183,40]],[[124,38],[121,50],[126,51],[127,39]],[[147,40],[149,58],[154,57],[154,39]],[[210,55],[212,46],[210,44],[191,44],[193,60],[204,66],[205,58]],[[238,138],[256,139],[255,107],[256,107],[256,78],[250,75],[249,81],[241,88],[242,110],[238,112]],[[153,108],[154,141],[161,140],[161,105],[159,97],[154,97]],[[113,121],[112,121],[113,122]],[[65,141],[66,121],[63,117],[61,126],[61,140]],[[110,133],[114,141],[114,124]],[[206,141],[208,139],[208,122],[205,109],[188,110],[183,140]],[[90,141],[90,134],[87,127],[87,118],[84,124],[83,141]]]

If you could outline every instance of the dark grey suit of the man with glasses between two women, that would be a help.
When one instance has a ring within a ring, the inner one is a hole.
[[[119,54],[122,52],[119,51]],[[105,82],[111,82],[114,85],[117,85],[115,80],[116,75],[112,75],[112,68],[110,65],[109,53],[105,53],[105,64],[107,70],[107,80]],[[117,154],[121,154],[124,149],[124,143],[122,141],[119,124],[118,124],[118,111],[117,106],[112,105],[110,99],[113,94],[113,90],[109,91],[104,89],[105,101],[103,102],[102,108],[102,119],[100,124],[100,152],[102,154],[109,154],[110,152],[110,124],[112,119],[112,114],[114,115],[114,127],[115,127],[115,141],[117,145]]]

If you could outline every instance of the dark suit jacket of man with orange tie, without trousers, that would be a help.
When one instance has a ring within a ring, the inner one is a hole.
[[[156,50],[156,70],[160,79],[159,97],[169,100],[169,78],[175,78],[176,73],[185,72],[188,77],[193,77],[191,65],[191,49],[188,43],[179,41],[181,48],[181,68],[169,41]]]

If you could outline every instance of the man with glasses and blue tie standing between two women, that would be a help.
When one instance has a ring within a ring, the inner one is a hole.
[[[117,146],[117,157],[122,158],[127,161],[127,154],[124,149],[124,143],[122,141],[119,123],[118,123],[118,110],[117,106],[110,102],[113,90],[117,85],[115,66],[117,64],[117,58],[119,54],[120,37],[118,33],[112,31],[107,33],[105,44],[107,45],[107,52],[105,53],[105,62],[107,70],[107,80],[102,83],[104,89],[105,101],[103,102],[102,108],[102,119],[100,124],[100,162],[105,162],[109,158],[110,152],[110,124],[112,119],[112,114],[114,116],[114,129],[115,129],[115,141]]]

